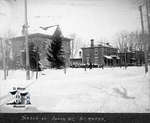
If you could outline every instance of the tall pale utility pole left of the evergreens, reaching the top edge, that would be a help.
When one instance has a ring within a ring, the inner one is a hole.
[[[29,71],[29,47],[28,47],[28,18],[27,18],[27,0],[24,0],[25,4],[25,42],[26,42],[26,79],[30,80]]]

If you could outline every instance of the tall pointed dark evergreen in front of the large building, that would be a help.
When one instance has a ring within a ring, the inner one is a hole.
[[[56,29],[52,42],[47,49],[47,60],[50,62],[52,68],[60,69],[64,67],[64,51],[62,48],[62,37],[60,30]]]

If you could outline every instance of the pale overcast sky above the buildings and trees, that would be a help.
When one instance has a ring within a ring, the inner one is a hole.
[[[132,1],[132,2],[131,2]],[[63,35],[76,33],[82,39],[112,39],[121,31],[140,30],[139,10],[134,0],[28,0],[29,33],[52,33],[39,26],[59,24]],[[24,0],[0,0],[0,35],[11,30],[21,35]]]

